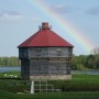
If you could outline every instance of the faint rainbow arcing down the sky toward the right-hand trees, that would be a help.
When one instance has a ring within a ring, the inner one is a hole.
[[[64,20],[61,15],[55,14],[47,3],[43,0],[28,0],[30,3],[35,6],[40,11],[47,15],[52,21],[54,21],[61,30],[64,30],[66,34],[72,36],[78,45],[81,45],[84,50],[89,54],[90,51],[95,47],[92,42],[90,42],[82,32],[76,29],[70,22]],[[76,46],[75,46],[76,47]]]

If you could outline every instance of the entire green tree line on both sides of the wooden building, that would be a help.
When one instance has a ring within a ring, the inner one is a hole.
[[[0,66],[21,66],[18,57],[0,57]],[[99,69],[99,54],[73,55],[73,69]]]

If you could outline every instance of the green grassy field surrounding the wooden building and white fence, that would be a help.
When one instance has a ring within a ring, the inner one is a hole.
[[[62,91],[30,95],[25,90],[30,91],[31,82],[21,80],[19,72],[7,75],[12,74],[18,75],[18,78],[0,74],[0,99],[99,99],[99,75],[73,75],[72,80],[48,81]]]

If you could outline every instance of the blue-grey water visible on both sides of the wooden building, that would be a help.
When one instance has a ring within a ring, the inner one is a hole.
[[[21,67],[0,67],[0,73],[7,73],[7,72],[21,72]],[[88,75],[99,75],[99,70],[72,70],[72,74],[88,74]]]

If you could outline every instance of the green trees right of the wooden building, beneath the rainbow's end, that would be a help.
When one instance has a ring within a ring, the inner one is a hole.
[[[73,56],[73,69],[99,69],[99,54]]]

